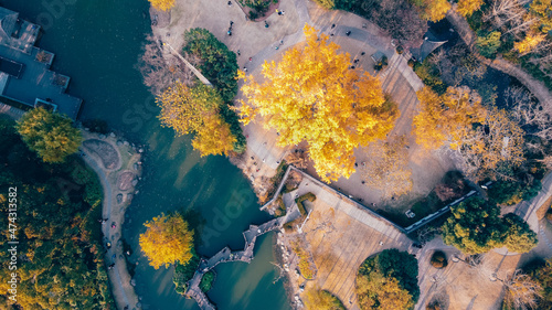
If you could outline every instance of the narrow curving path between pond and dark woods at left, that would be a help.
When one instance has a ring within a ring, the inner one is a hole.
[[[106,137],[83,131],[83,138],[84,142],[94,141],[94,143],[87,143],[88,146],[99,145],[98,150],[112,149],[118,156],[120,165],[108,169],[104,165],[106,160],[102,158],[105,152],[96,152],[94,148],[85,147],[85,143],[81,147],[83,160],[97,173],[104,191],[102,214],[103,218],[107,218],[107,221],[102,224],[102,232],[104,234],[104,246],[107,243],[112,245],[109,248],[106,246],[105,261],[107,266],[115,265],[114,268],[107,271],[115,302],[120,310],[141,309],[138,296],[131,285],[132,279],[128,274],[121,240],[125,211],[136,193],[136,182],[120,184],[119,179],[121,174],[128,177],[129,173],[132,173],[134,178],[136,178],[134,180],[137,181],[141,174],[141,168],[138,164],[141,156],[128,142],[118,141],[115,136]]]

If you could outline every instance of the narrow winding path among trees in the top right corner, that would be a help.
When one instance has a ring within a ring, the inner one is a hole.
[[[464,42],[466,42],[474,55],[476,55],[486,65],[516,77],[531,92],[531,94],[533,94],[533,96],[537,97],[537,99],[539,99],[543,106],[552,107],[552,93],[546,85],[544,85],[544,83],[533,78],[521,67],[513,65],[503,58],[497,57],[496,60],[488,60],[479,55],[479,53],[474,49],[476,34],[469,28],[466,19],[456,12],[456,4],[454,4],[453,9],[448,11],[447,19],[456,28],[456,31],[458,31],[460,38]]]

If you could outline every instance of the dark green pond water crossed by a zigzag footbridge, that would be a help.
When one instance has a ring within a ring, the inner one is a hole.
[[[205,0],[209,1],[209,0]],[[159,126],[153,97],[136,70],[150,32],[145,0],[4,0],[0,4],[43,25],[38,45],[55,53],[53,70],[71,76],[68,92],[84,99],[81,119],[106,120],[146,146],[140,193],[127,210],[124,237],[135,253],[137,292],[145,309],[198,309],[173,290],[172,269],[155,270],[140,256],[142,223],[161,212],[194,209],[205,218],[200,254],[229,245],[242,249],[242,232],[268,216],[238,169],[223,157],[200,158],[188,137]],[[277,272],[273,235],[258,239],[252,264],[222,264],[209,297],[219,309],[289,309]],[[146,308],[147,307],[147,308]]]

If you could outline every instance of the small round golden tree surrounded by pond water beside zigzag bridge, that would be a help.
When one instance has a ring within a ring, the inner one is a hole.
[[[146,233],[140,234],[140,247],[149,265],[158,269],[177,261],[184,265],[192,258],[193,231],[179,213],[153,217],[144,224]]]

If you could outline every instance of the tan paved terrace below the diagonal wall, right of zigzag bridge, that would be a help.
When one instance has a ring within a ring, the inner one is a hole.
[[[337,296],[347,309],[357,310],[354,281],[362,261],[386,248],[411,253],[417,249],[412,247],[413,242],[393,223],[309,174],[300,173],[304,178],[298,189],[285,194],[284,201],[289,213],[289,202],[293,207],[296,206],[289,197],[309,192],[316,195],[312,203],[306,203],[309,218],[302,224],[301,235],[308,242],[318,271],[315,280],[306,281],[305,291],[308,287],[318,286]],[[294,272],[289,275],[294,289],[305,282]],[[301,299],[305,297],[305,292],[296,291],[294,295]]]

